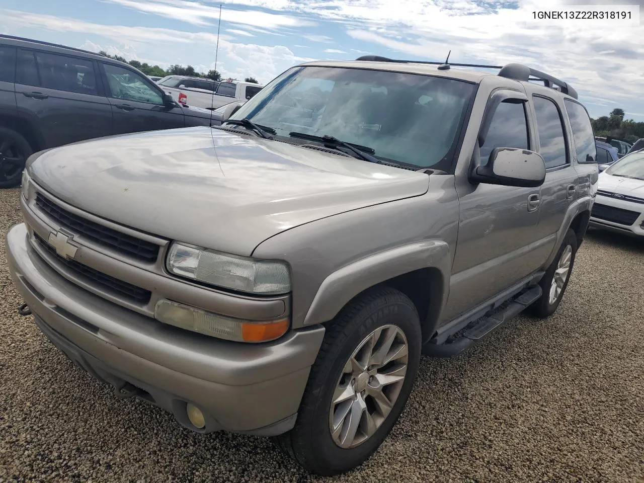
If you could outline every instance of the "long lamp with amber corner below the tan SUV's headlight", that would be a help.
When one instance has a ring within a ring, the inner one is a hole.
[[[289,330],[289,319],[274,321],[232,319],[165,299],[156,303],[155,318],[168,325],[237,342],[272,341]]]

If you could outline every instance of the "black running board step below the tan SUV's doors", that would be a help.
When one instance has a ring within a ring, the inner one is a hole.
[[[460,333],[455,334],[450,340],[442,344],[428,342],[422,346],[422,354],[431,357],[454,357],[461,352],[475,345],[483,337],[500,327],[512,317],[517,316],[526,308],[535,303],[542,295],[540,285],[535,285],[524,292],[521,292],[515,299],[511,299],[505,307],[499,308],[496,312],[481,317],[467,325]]]

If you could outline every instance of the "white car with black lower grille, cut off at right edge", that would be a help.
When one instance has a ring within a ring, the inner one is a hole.
[[[590,226],[644,236],[644,150],[600,173]]]

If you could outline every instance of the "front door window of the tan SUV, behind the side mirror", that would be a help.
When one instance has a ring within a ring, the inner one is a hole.
[[[481,162],[486,164],[495,147],[528,149],[526,108],[523,102],[501,102],[489,126],[485,144],[481,146]]]

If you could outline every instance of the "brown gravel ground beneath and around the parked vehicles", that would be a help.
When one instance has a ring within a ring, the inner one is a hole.
[[[19,222],[0,191],[0,231]],[[200,436],[119,400],[20,317],[0,249],[0,482],[305,482],[270,440]],[[591,232],[549,319],[424,359],[399,423],[342,482],[644,482],[644,243]]]

